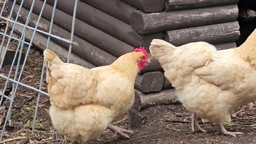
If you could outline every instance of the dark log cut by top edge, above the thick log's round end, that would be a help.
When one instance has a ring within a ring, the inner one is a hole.
[[[164,9],[164,0],[121,0],[144,12],[161,12]]]

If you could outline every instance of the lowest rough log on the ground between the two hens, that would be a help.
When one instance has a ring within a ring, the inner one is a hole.
[[[179,100],[174,95],[174,89],[162,90],[155,93],[142,93],[135,89],[135,100],[132,108],[140,111],[148,107],[161,106],[161,105],[177,105],[180,104]]]

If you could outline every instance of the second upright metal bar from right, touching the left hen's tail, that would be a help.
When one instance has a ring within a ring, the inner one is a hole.
[[[57,6],[57,2],[58,2],[58,0],[54,1],[53,10],[52,10],[52,18],[51,18],[51,23],[50,23],[50,28],[49,28],[49,34],[52,34],[53,19],[54,19],[54,14],[55,14],[55,9],[56,9],[56,6]],[[49,49],[50,39],[51,39],[51,37],[48,36],[47,44],[46,44],[46,48],[45,48],[46,50]],[[44,65],[45,65],[45,61],[43,62],[43,68],[42,68],[42,73],[41,73],[39,90],[42,89],[43,77],[44,77],[44,69],[45,69]],[[37,117],[37,111],[38,111],[38,105],[39,105],[40,97],[41,97],[41,93],[38,93],[37,101],[36,101],[36,110],[35,110],[33,126],[32,126],[32,134],[34,134],[34,132],[35,132],[35,124],[36,124],[36,117]]]

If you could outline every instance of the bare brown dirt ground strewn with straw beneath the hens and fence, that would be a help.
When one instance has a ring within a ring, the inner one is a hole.
[[[0,0],[0,10],[2,2],[3,0]],[[4,17],[7,17],[6,14],[7,12],[5,11]],[[3,33],[4,29],[5,22],[0,20],[0,31]],[[2,42],[2,38],[0,36],[0,42]],[[11,48],[15,49],[17,44],[17,41],[11,41]],[[26,51],[27,49],[24,52]],[[29,52],[21,82],[38,88],[42,65],[42,52],[32,48]],[[7,76],[9,70],[10,66],[5,66],[0,72]],[[13,71],[15,71],[15,68]],[[11,77],[14,77],[13,72]],[[5,82],[6,79],[0,79],[0,89],[4,88]],[[46,91],[45,87],[46,83],[44,82],[44,91]],[[42,95],[40,99],[35,134],[31,134],[36,100],[37,92],[19,86],[14,98],[11,121],[8,122],[3,135],[3,141],[0,143],[78,143],[76,140],[63,137],[60,133],[55,138],[56,133],[49,116],[50,102],[49,98],[45,95]],[[6,100],[3,106],[5,109],[0,114],[3,116],[2,121],[4,122],[5,117],[3,113],[6,115],[10,101]],[[186,117],[190,116],[190,113],[181,105],[151,107],[140,111],[140,114],[146,118],[139,129],[131,129],[129,127],[127,116],[123,116],[114,122],[117,126],[133,130],[134,133],[129,134],[131,139],[123,139],[119,135],[106,130],[99,140],[88,143],[256,143],[256,106],[252,109],[249,109],[248,105],[239,108],[232,117],[233,121],[225,125],[229,131],[245,133],[244,135],[237,135],[236,138],[218,134],[217,126],[209,122],[202,123],[202,120],[199,118],[200,125],[208,132],[202,133],[196,130],[192,133],[189,120],[184,121]],[[3,123],[0,124],[0,134],[2,129]]]

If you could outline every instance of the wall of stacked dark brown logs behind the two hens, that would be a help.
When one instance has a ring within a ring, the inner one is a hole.
[[[239,38],[238,0],[78,0],[74,44],[71,62],[88,68],[109,65],[134,47],[149,49],[154,38],[180,46],[205,41],[218,49],[236,47]],[[25,0],[18,21],[26,23],[33,0]],[[44,0],[35,1],[28,25],[35,27]],[[12,17],[17,17],[21,0],[14,5]],[[9,7],[13,0],[9,1]],[[54,0],[47,0],[38,29],[49,31]],[[69,39],[75,1],[58,1],[52,34]],[[11,9],[9,9],[11,10]],[[22,27],[14,31],[22,33]],[[30,41],[31,30],[26,39]],[[47,37],[36,33],[33,45],[44,50]],[[50,48],[64,59],[69,44],[51,38]],[[149,52],[149,50],[148,50]],[[164,77],[159,62],[151,58],[150,65],[135,80],[135,104],[131,111],[156,105],[177,103],[170,82]],[[138,118],[130,111],[129,116]],[[137,112],[136,112],[137,113]],[[133,119],[133,118],[129,118]],[[130,121],[131,125],[133,124]]]

